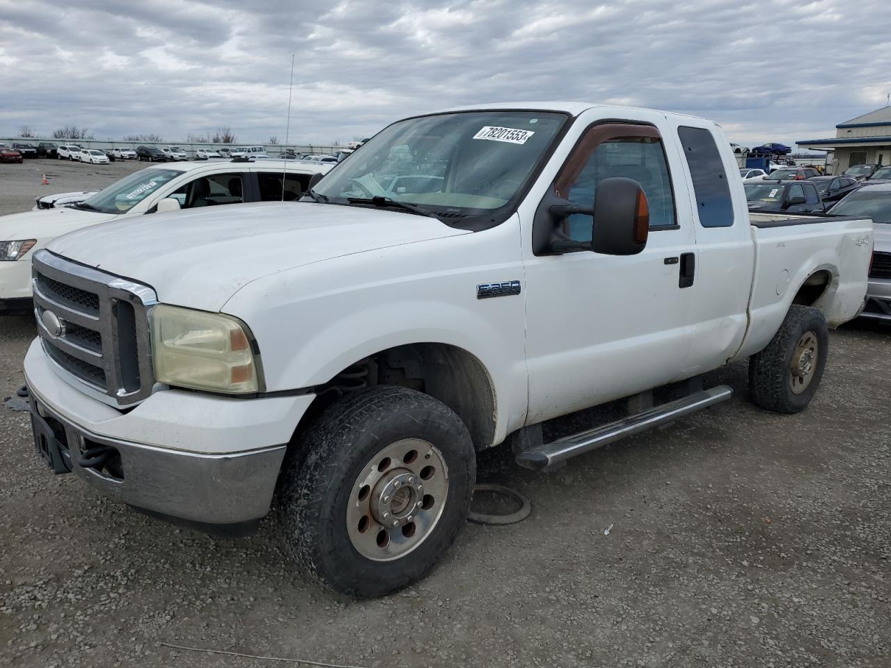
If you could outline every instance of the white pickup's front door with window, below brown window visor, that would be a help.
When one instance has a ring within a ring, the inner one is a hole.
[[[527,424],[685,378],[693,329],[693,290],[686,288],[697,280],[680,278],[688,262],[682,257],[695,261],[690,198],[683,176],[673,183],[672,175],[684,172],[674,143],[663,141],[660,117],[640,113],[589,126],[549,196],[590,207],[603,178],[634,179],[650,205],[646,248],[623,257],[588,250],[535,255],[524,242]],[[539,207],[533,234],[541,224],[590,240],[597,221],[576,215],[561,223]]]

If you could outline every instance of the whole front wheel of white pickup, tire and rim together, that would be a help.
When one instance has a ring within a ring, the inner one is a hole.
[[[323,411],[282,472],[279,518],[300,566],[335,591],[382,596],[436,566],[464,525],[476,456],[454,411],[376,387]]]

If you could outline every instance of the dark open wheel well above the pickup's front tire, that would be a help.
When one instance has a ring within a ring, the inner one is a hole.
[[[295,436],[339,397],[377,385],[409,387],[445,403],[462,419],[478,450],[495,439],[495,388],[486,367],[463,348],[440,343],[388,348],[339,371],[318,387]]]

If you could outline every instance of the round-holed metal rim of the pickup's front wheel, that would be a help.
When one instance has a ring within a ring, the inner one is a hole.
[[[372,561],[405,557],[439,523],[448,494],[448,468],[433,444],[406,438],[378,452],[350,489],[347,534]]]

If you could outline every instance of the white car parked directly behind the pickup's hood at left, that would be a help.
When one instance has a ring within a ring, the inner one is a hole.
[[[4,240],[20,240],[22,234],[35,240],[34,248],[43,248],[66,232],[112,220],[135,221],[136,216],[154,214],[159,209],[298,200],[309,189],[313,176],[326,174],[330,169],[328,165],[283,160],[269,161],[262,167],[252,162],[219,160],[152,165],[99,192],[56,196],[60,200],[70,197],[67,205],[61,201],[44,204],[38,200],[36,208],[40,210],[0,216],[0,248]],[[285,174],[284,187],[282,173]],[[84,194],[87,196],[80,196]],[[211,232],[208,230],[208,233]],[[0,313],[20,311],[31,297],[30,255],[22,253],[20,257],[24,257],[24,261],[18,263],[3,262],[0,257]]]

